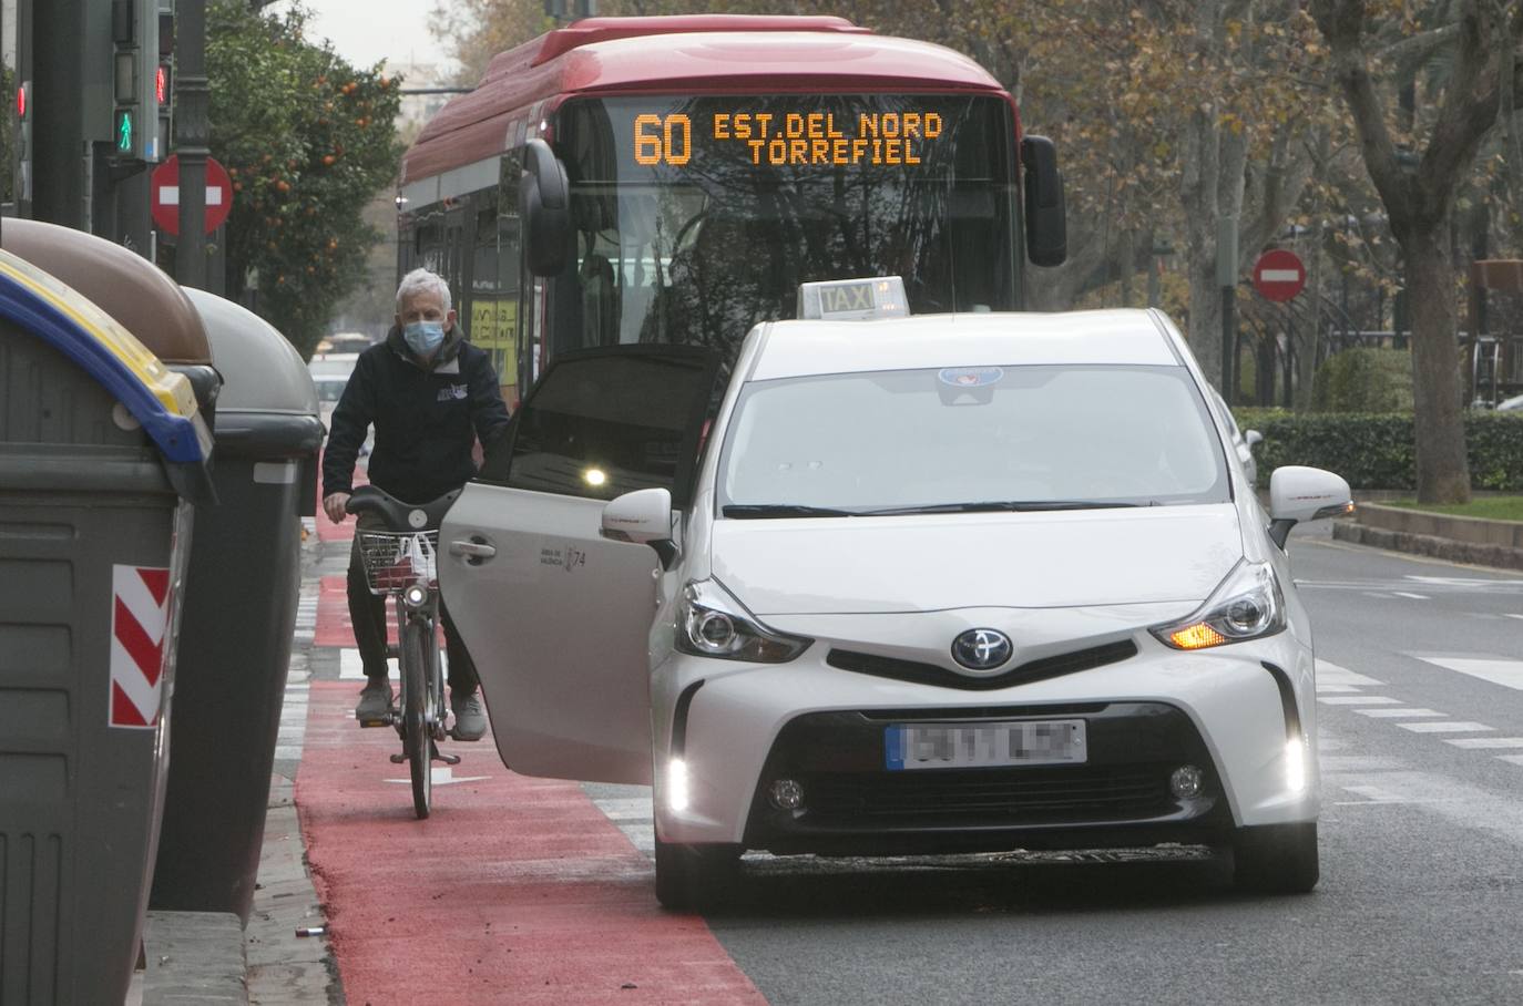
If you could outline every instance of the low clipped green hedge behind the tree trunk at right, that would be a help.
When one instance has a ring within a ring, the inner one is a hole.
[[[1256,429],[1260,487],[1282,464],[1337,472],[1355,489],[1416,489],[1410,412],[1308,412],[1232,409],[1238,426]],[[1465,412],[1471,489],[1523,492],[1523,414]]]

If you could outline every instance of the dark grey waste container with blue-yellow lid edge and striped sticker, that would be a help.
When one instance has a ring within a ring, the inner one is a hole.
[[[210,434],[189,382],[0,251],[0,1001],[120,1003]]]

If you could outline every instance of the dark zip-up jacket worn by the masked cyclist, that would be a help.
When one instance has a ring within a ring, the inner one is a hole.
[[[423,504],[475,475],[471,447],[507,426],[507,406],[490,358],[455,326],[433,364],[422,364],[393,327],[355,362],[334,409],[323,454],[323,496],[353,490],[355,458],[375,425],[370,482],[398,499]]]

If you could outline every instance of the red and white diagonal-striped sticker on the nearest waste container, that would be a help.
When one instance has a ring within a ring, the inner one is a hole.
[[[169,571],[111,568],[111,726],[154,727],[164,685]]]

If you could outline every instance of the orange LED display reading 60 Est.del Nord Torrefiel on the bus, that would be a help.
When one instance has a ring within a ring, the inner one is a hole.
[[[635,163],[684,166],[704,145],[736,145],[752,164],[874,166],[920,164],[943,132],[934,111],[771,113],[714,111],[637,114]]]

